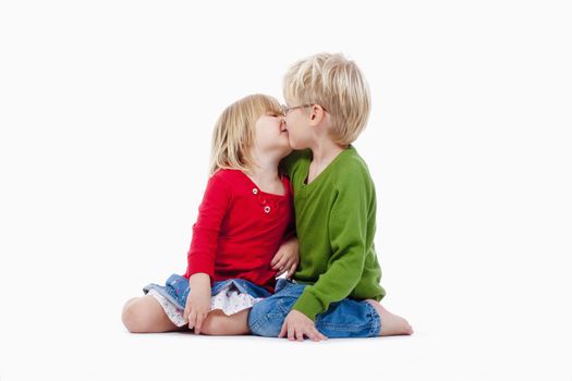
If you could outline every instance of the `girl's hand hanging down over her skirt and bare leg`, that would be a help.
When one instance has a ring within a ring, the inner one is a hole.
[[[196,273],[188,279],[191,292],[186,298],[184,317],[188,319],[188,328],[200,333],[200,327],[210,312],[210,278],[205,273]]]

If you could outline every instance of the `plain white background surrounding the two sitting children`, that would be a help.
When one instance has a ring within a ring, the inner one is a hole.
[[[572,380],[565,1],[2,1],[0,380]],[[132,335],[185,269],[212,125],[294,61],[369,82],[385,306],[411,337]]]

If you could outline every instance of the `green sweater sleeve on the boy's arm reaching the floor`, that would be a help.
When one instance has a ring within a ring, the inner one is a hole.
[[[364,270],[368,185],[360,171],[355,171],[348,173],[342,186],[334,193],[329,217],[331,257],[327,270],[316,283],[304,288],[293,306],[312,320],[325,312],[330,304],[348,297]]]

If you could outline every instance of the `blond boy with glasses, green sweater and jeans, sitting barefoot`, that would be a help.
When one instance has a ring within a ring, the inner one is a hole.
[[[341,54],[321,53],[295,63],[283,91],[296,151],[281,165],[294,189],[301,261],[293,281],[279,280],[276,294],[254,306],[248,328],[299,341],[413,333],[378,302],[385,291],[374,247],[375,188],[351,146],[370,108],[362,73]]]

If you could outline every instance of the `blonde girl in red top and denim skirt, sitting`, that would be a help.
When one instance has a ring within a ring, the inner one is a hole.
[[[250,333],[250,308],[273,292],[276,276],[290,278],[300,259],[291,185],[278,172],[290,151],[276,99],[252,95],[222,112],[186,272],[147,285],[145,296],[125,304],[129,331]]]

